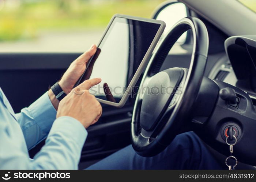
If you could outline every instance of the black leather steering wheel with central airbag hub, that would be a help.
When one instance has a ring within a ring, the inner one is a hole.
[[[193,51],[189,69],[159,72],[177,39],[192,30]],[[208,54],[208,33],[195,17],[178,21],[152,55],[140,84],[131,123],[133,149],[143,157],[157,155],[177,134],[189,131],[188,118],[198,94]]]

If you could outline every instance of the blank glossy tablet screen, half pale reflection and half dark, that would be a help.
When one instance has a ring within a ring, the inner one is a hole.
[[[89,78],[101,78],[102,82],[90,89],[97,98],[106,97],[106,84],[118,103],[142,62],[160,24],[115,17],[80,83]]]

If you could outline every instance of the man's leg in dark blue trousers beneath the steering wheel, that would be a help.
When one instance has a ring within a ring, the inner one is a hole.
[[[222,169],[194,132],[177,135],[154,157],[141,157],[129,145],[87,169]]]

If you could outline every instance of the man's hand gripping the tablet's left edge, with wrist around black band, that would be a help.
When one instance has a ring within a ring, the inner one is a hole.
[[[93,44],[90,50],[84,52],[84,54],[80,55],[76,60],[74,60],[74,62],[70,64],[69,68],[59,81],[60,87],[66,94],[69,94],[80,76],[82,76],[86,68],[86,63],[91,58],[91,56],[95,54],[96,50],[97,48],[95,44]],[[53,94],[51,89],[48,91],[48,95],[54,108],[57,110],[59,106],[59,100],[56,99],[56,96]]]

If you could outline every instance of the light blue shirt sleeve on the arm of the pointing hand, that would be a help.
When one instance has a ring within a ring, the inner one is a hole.
[[[34,157],[34,166],[37,169],[77,169],[86,137],[87,131],[78,120],[69,116],[56,119],[45,145]]]

